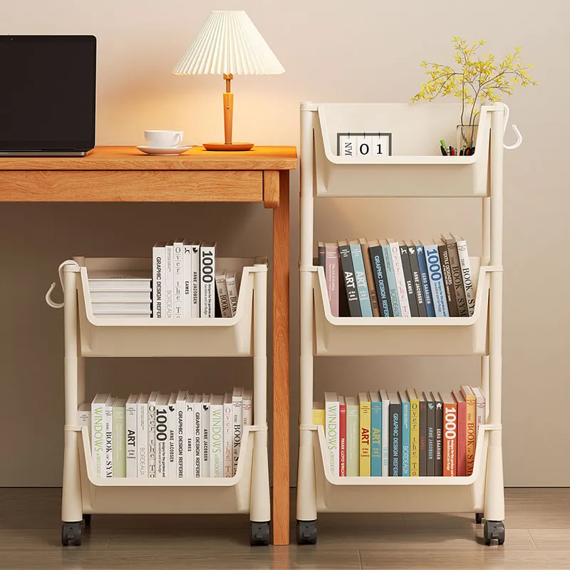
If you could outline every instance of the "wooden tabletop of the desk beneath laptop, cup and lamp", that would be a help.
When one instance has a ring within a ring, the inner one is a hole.
[[[0,170],[294,170],[296,147],[216,152],[192,147],[177,156],[149,156],[128,146],[98,146],[86,157],[0,157]]]

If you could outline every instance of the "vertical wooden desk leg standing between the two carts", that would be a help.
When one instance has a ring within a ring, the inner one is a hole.
[[[273,544],[289,544],[289,171],[273,211]]]

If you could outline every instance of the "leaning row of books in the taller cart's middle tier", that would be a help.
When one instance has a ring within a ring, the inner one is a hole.
[[[475,288],[467,242],[366,238],[318,243],[333,316],[472,316]]]

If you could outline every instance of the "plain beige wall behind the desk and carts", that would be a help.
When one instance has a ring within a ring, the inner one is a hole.
[[[170,73],[211,9],[246,9],[287,70],[283,76],[234,81],[235,138],[259,144],[297,144],[300,100],[407,101],[423,81],[418,63],[444,61],[454,34],[486,38],[497,54],[522,44],[524,56],[536,65],[539,87],[522,90],[509,101],[524,144],[507,154],[504,165],[505,478],[510,485],[566,485],[570,121],[564,109],[570,87],[569,4],[1,0],[0,33],[98,36],[97,140],[131,145],[142,142],[145,128],[182,128],[190,143],[220,138],[222,79]],[[293,268],[299,244],[297,192],[294,173]],[[0,485],[58,485],[63,315],[43,302],[58,263],[74,254],[147,255],[155,240],[179,234],[217,239],[223,256],[269,255],[271,218],[258,205],[229,204],[3,204],[1,212]],[[316,237],[415,237],[449,229],[464,234],[476,251],[479,219],[478,204],[467,200],[330,200],[318,202]],[[291,295],[294,424],[299,408],[295,269]],[[127,395],[179,386],[222,390],[234,383],[249,384],[250,371],[247,360],[90,361],[88,395],[95,390]],[[324,388],[353,393],[379,385],[443,388],[460,380],[475,382],[477,371],[477,359],[469,358],[321,359],[316,363],[316,393]],[[296,435],[293,425],[293,465]]]

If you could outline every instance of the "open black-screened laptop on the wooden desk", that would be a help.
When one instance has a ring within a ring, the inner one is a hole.
[[[95,147],[95,36],[0,36],[0,156]]]

